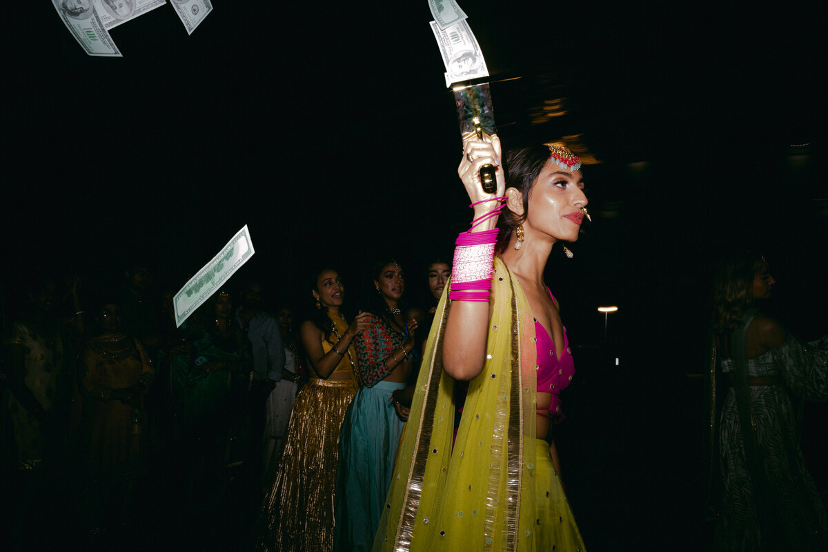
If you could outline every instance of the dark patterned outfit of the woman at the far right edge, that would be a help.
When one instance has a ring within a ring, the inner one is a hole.
[[[828,550],[828,516],[799,447],[791,401],[791,394],[828,400],[828,337],[803,345],[788,336],[747,359],[744,332],[758,314],[746,313],[741,335],[731,340],[734,358],[721,359],[734,386],[719,420],[722,516],[715,550]],[[751,377],[763,381],[751,384]]]

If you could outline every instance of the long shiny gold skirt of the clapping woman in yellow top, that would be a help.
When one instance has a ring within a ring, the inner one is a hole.
[[[356,391],[353,381],[311,379],[296,394],[285,451],[262,504],[256,550],[333,550],[339,431]]]

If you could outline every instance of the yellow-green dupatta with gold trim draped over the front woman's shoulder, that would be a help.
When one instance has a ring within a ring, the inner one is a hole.
[[[437,307],[373,550],[534,550],[536,344],[517,280],[494,262],[483,372],[469,382],[454,450]],[[516,521],[519,521],[516,523]]]

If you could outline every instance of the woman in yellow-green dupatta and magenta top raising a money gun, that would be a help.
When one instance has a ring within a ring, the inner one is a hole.
[[[482,190],[484,165],[496,194]],[[571,355],[543,281],[552,246],[574,242],[585,218],[580,159],[535,146],[506,168],[508,180],[497,137],[465,142],[458,171],[475,217],[456,242],[373,550],[585,550],[550,435],[558,388],[546,382]],[[469,390],[452,444],[455,380]]]

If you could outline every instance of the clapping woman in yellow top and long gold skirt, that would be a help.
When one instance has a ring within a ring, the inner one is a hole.
[[[315,309],[301,326],[310,382],[293,403],[282,460],[262,506],[257,550],[333,550],[339,430],[359,387],[352,342],[368,315],[358,314],[351,324],[345,319],[344,285],[335,270],[316,272],[310,287]]]

